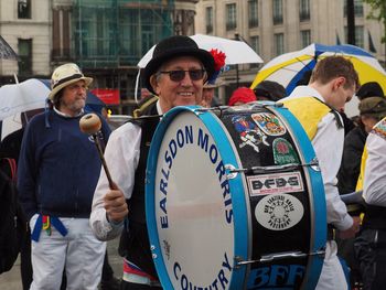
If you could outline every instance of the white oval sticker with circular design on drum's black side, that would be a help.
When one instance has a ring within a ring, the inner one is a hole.
[[[255,207],[256,221],[270,230],[291,228],[300,222],[303,214],[303,205],[290,194],[269,194]]]

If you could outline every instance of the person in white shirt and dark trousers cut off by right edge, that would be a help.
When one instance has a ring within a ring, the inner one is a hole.
[[[364,289],[382,289],[386,284],[386,117],[368,133],[365,151],[366,212],[354,248]]]

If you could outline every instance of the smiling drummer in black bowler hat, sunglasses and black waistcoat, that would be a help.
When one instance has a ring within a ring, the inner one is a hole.
[[[213,73],[213,56],[199,49],[191,37],[162,40],[143,72],[146,87],[159,96],[159,100],[142,115],[153,117],[125,123],[111,133],[105,157],[116,186],[109,189],[101,172],[90,222],[94,233],[103,240],[112,239],[121,233],[119,251],[125,258],[121,289],[161,289],[144,217],[149,144],[160,115],[175,106],[200,104],[204,83]],[[128,222],[124,223],[126,218]]]

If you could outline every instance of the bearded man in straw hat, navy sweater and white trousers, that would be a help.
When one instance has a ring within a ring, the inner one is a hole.
[[[29,122],[19,158],[19,196],[32,230],[31,289],[60,289],[64,268],[67,289],[97,289],[106,243],[94,236],[89,214],[100,160],[79,129],[93,78],[68,63],[51,80],[51,108]]]

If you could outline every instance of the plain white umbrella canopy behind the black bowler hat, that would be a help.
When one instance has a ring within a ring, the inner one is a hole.
[[[228,40],[212,35],[195,34],[190,36],[193,39],[200,49],[211,51],[219,50],[225,53],[225,64],[247,64],[247,63],[262,63],[261,57],[245,42]],[[152,46],[144,56],[137,64],[138,67],[146,67],[148,62],[153,55],[153,50],[156,45]]]

